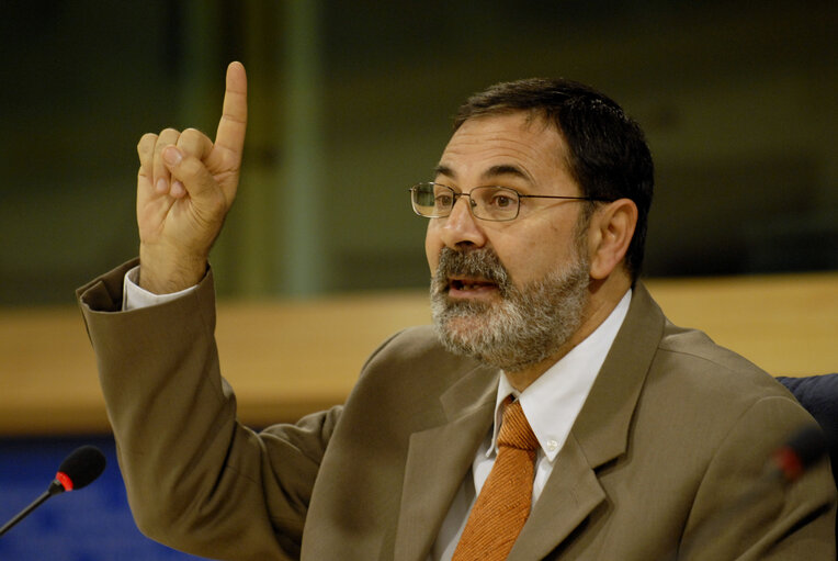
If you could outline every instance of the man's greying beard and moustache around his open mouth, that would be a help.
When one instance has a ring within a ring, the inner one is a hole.
[[[584,251],[566,268],[518,289],[491,249],[448,247],[431,280],[431,315],[442,345],[506,372],[519,372],[555,355],[582,322],[589,263]],[[450,274],[482,277],[498,285],[500,302],[451,300]]]

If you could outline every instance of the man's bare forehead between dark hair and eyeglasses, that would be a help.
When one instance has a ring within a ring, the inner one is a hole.
[[[439,171],[454,179],[520,170],[542,183],[567,176],[566,146],[555,125],[528,112],[484,115],[465,121],[440,158]],[[511,175],[518,175],[512,172]]]

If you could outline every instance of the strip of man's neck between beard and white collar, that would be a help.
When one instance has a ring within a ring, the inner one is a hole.
[[[570,338],[562,345],[556,352],[536,364],[519,370],[517,372],[506,372],[509,383],[519,392],[529,388],[541,374],[562,360],[577,345],[588,338],[590,334],[602,325],[611,312],[623,299],[625,293],[632,287],[631,278],[627,274],[612,274],[603,280],[591,280],[588,289],[588,304],[582,313],[582,321],[579,328],[574,332]]]

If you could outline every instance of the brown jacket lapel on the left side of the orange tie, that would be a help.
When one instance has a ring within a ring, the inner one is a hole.
[[[441,397],[438,426],[414,433],[407,453],[394,559],[424,561],[492,422],[498,372],[476,369]]]

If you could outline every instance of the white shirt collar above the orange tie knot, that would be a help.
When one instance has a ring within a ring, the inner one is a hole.
[[[551,462],[555,460],[623,325],[631,300],[632,291],[628,290],[593,333],[550,367],[523,393],[513,389],[506,373],[501,372],[495,402],[491,447],[487,456],[497,453],[498,429],[503,413],[501,405],[512,395],[521,401],[526,420],[544,455]]]

